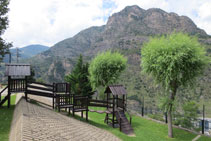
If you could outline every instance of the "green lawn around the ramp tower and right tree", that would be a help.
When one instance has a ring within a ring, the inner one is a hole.
[[[95,110],[102,110],[102,108],[94,108]],[[76,117],[79,120],[85,121],[80,117]],[[108,130],[109,132],[113,133],[123,141],[191,141],[197,135],[192,134],[190,132],[174,128],[174,138],[169,138],[168,127],[165,124],[160,124],[151,120],[147,120],[145,118],[139,116],[133,116],[132,119],[132,127],[135,132],[135,137],[127,136],[119,131],[119,128],[112,128],[104,123],[105,114],[99,114],[95,112],[89,112],[89,123],[97,126],[99,128]],[[211,138],[202,136],[200,137],[202,141],[211,140]]]

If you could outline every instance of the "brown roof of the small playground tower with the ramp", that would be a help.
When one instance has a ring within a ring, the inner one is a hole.
[[[105,93],[112,93],[113,95],[126,95],[127,91],[123,85],[109,85]]]

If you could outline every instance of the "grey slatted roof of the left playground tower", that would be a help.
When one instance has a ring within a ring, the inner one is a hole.
[[[6,76],[30,76],[29,64],[6,64]]]

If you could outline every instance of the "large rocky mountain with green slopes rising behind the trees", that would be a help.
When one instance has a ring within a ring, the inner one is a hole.
[[[119,83],[127,87],[128,98],[135,102],[145,96],[145,103],[150,106],[157,104],[159,86],[155,86],[151,78],[140,74],[141,47],[149,37],[160,36],[173,31],[182,31],[198,36],[208,55],[211,50],[211,36],[198,28],[187,16],[168,13],[158,8],[144,10],[138,6],[127,6],[122,11],[109,17],[106,25],[90,27],[79,32],[72,38],[65,39],[49,50],[42,52],[27,62],[31,63],[37,78],[49,83],[64,81],[64,76],[71,72],[80,54],[90,61],[98,52],[104,50],[119,51],[128,58],[127,70],[122,74]],[[194,98],[211,98],[211,69],[199,78],[196,88],[181,89],[178,97],[190,93]]]

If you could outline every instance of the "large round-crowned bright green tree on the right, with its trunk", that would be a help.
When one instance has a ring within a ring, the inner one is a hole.
[[[142,48],[142,71],[152,75],[168,95],[168,136],[173,137],[172,106],[179,87],[192,85],[207,64],[205,50],[196,37],[183,33],[154,37]]]

